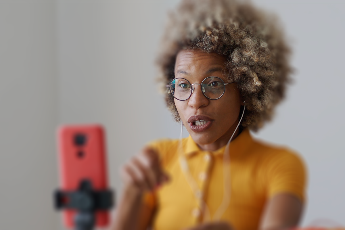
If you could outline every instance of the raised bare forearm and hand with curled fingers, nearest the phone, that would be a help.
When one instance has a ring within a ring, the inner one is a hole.
[[[157,152],[145,148],[120,172],[125,186],[111,230],[145,230],[152,218],[153,208],[143,202],[143,196],[168,180],[160,168]]]

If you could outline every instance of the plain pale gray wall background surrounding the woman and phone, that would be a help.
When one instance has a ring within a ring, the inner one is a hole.
[[[152,139],[178,137],[154,81],[177,2],[0,0],[0,229],[61,229],[52,204],[58,124],[105,125],[118,193],[122,163]],[[255,136],[304,158],[303,226],[320,218],[345,226],[345,2],[254,2],[282,19],[296,69],[276,118]]]

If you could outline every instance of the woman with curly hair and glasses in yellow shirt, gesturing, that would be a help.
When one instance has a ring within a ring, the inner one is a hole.
[[[114,229],[287,229],[305,170],[254,140],[284,97],[289,49],[248,3],[185,0],[170,14],[158,64],[166,101],[190,136],[152,142],[121,170]]]

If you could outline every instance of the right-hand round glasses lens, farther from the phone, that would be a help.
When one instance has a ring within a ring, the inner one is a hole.
[[[201,84],[201,89],[203,90],[205,96],[209,99],[218,99],[224,94],[224,81],[218,77],[205,78]]]

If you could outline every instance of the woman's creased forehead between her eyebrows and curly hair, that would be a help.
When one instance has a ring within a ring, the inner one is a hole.
[[[181,50],[175,63],[175,72],[207,72],[211,68],[224,68],[226,58],[217,53],[205,53],[200,50]]]

